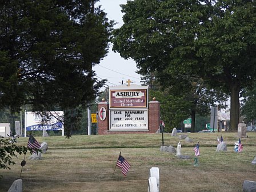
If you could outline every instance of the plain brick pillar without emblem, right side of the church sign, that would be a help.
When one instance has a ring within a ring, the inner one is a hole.
[[[149,102],[149,133],[155,133],[160,125],[160,103],[155,101]]]

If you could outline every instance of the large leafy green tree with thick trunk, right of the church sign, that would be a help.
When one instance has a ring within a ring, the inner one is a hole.
[[[203,78],[231,97],[231,131],[239,120],[239,93],[256,81],[255,1],[134,0],[121,5],[124,25],[113,50],[133,58],[139,73],[156,78]],[[170,85],[171,86],[171,85]]]

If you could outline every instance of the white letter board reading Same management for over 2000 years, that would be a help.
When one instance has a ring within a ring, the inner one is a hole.
[[[148,130],[147,110],[110,110],[110,130]]]

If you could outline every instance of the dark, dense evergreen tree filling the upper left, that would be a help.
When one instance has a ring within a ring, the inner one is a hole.
[[[106,56],[113,27],[94,2],[0,2],[1,108],[74,110],[94,100],[105,81],[92,66]]]

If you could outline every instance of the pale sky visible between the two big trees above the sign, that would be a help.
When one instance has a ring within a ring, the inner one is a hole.
[[[117,24],[114,28],[123,25],[123,13],[119,5],[126,4],[126,0],[100,0],[96,6],[102,5],[101,9],[107,13],[107,18],[114,20]],[[123,59],[119,53],[112,51],[110,45],[108,55],[103,58],[99,65],[93,67],[98,79],[107,79],[107,86],[117,86],[126,83],[128,79],[134,84],[140,85],[140,75],[135,73],[137,70],[136,63],[132,59]]]

